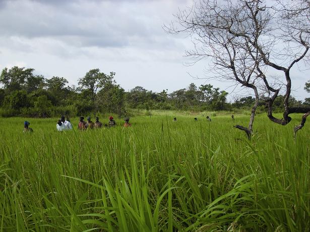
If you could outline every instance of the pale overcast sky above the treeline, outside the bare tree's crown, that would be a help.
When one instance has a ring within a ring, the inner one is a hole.
[[[62,76],[71,85],[92,68],[116,72],[115,80],[126,90],[172,92],[211,83],[234,93],[228,83],[204,78],[203,60],[193,66],[184,57],[192,42],[185,35],[169,35],[163,24],[173,20],[178,8],[192,0],[0,0],[0,69],[25,66],[45,78]],[[294,71],[293,95],[303,90],[307,71]],[[241,92],[242,93],[242,92]]]

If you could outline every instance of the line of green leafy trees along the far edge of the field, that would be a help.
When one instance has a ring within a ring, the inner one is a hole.
[[[4,68],[0,76],[0,116],[53,117],[59,115],[88,115],[115,113],[119,117],[129,115],[130,109],[186,110],[186,111],[238,111],[250,109],[255,102],[251,96],[240,97],[227,103],[226,91],[210,84],[168,93],[156,93],[137,86],[129,92],[114,80],[115,72],[105,74],[99,69],[89,70],[79,79],[78,86],[68,86],[66,78],[50,79],[35,75],[33,68],[14,66]],[[308,87],[305,85],[305,89]],[[283,96],[274,103],[274,112],[283,110]],[[290,97],[291,106],[310,106],[310,98],[303,102]],[[265,110],[261,97],[259,112]]]

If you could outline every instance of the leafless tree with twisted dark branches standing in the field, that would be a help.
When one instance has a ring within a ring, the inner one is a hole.
[[[290,27],[289,20],[283,14],[283,7],[267,6],[259,0],[226,0],[220,4],[200,0],[192,8],[179,11],[176,22],[165,26],[169,33],[185,32],[192,37],[195,49],[186,54],[197,60],[211,58],[211,68],[217,73],[215,78],[234,81],[253,90],[256,102],[249,127],[235,126],[249,138],[259,96],[266,94],[264,90],[269,96],[268,117],[275,123],[286,125],[291,120],[289,114],[310,111],[288,106],[290,70],[300,60],[306,60],[308,52],[308,34],[296,26],[297,22]],[[268,75],[271,69],[282,71],[283,80],[272,83],[275,80]],[[272,105],[280,91],[285,93],[284,112],[283,118],[277,119],[272,114]],[[295,132],[299,127],[295,127]]]

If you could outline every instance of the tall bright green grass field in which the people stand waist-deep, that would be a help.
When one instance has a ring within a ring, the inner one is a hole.
[[[0,231],[307,231],[310,122],[293,139],[258,115],[138,116],[132,127],[56,132],[0,119]],[[103,118],[101,118],[103,119]],[[105,121],[101,120],[103,123]]]

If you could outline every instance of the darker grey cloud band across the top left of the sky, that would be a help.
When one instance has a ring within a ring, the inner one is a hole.
[[[48,4],[45,4],[48,2]],[[123,47],[167,45],[174,39],[163,32],[156,1],[9,1],[0,14],[2,35],[49,37],[77,46]],[[62,3],[62,2],[61,2]],[[142,6],[143,5],[143,6]],[[151,6],[149,6],[151,5]],[[74,38],[74,41],[68,40]],[[163,39],[164,38],[164,39]]]

